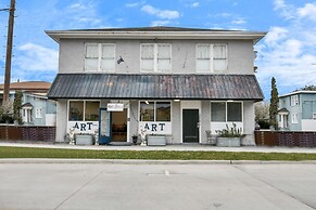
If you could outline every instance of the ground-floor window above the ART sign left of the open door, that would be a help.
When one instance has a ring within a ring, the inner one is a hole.
[[[69,121],[99,121],[100,102],[69,101]]]

